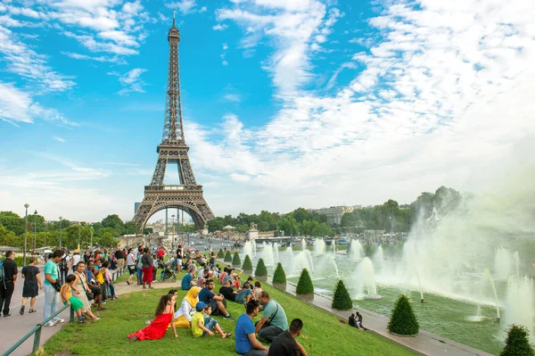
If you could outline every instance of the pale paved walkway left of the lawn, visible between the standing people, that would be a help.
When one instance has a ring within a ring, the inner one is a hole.
[[[41,268],[42,269],[42,268]],[[113,272],[113,271],[111,271]],[[41,273],[42,274],[42,273]],[[42,277],[42,276],[41,276]],[[177,277],[180,278],[180,275]],[[176,283],[171,283],[169,281],[165,281],[164,283],[154,283],[152,286],[155,288],[164,288],[164,289],[171,289],[171,287],[180,286],[180,279],[177,280]],[[22,301],[22,284],[23,279],[21,279],[21,273],[19,273],[19,277],[17,277],[17,282],[15,283],[15,291],[13,293],[12,297],[12,303],[11,303],[11,317],[4,318],[0,317],[0,354],[3,354],[6,352],[13,344],[15,344],[17,341],[21,340],[22,336],[26,335],[31,331],[32,328],[36,327],[38,323],[43,321],[43,306],[45,304],[45,294],[42,290],[39,291],[39,295],[36,299],[36,305],[35,310],[37,310],[36,313],[29,314],[29,302],[26,304],[26,312],[24,315],[21,316],[19,314],[19,310],[21,310],[21,301]],[[142,286],[137,285],[131,285],[128,286],[126,282],[120,282],[116,285],[116,292],[120,296],[120,294],[128,294],[131,292],[141,291]],[[113,301],[110,301],[108,303],[112,303]],[[60,303],[60,308],[62,307],[62,303]],[[93,308],[94,314],[96,316],[99,315],[98,311],[95,311],[96,308]],[[69,322],[70,318],[70,310],[64,310],[62,314],[60,314],[60,318],[65,319],[65,324]],[[103,321],[103,320],[99,320]],[[41,330],[41,345],[45,344],[46,340],[48,340],[52,335],[54,335],[56,332],[58,332],[61,329],[60,325],[56,325],[55,327],[43,327]],[[30,336],[28,340],[26,340],[19,348],[12,352],[11,355],[13,356],[27,356],[31,353],[32,347],[33,347],[34,337]]]

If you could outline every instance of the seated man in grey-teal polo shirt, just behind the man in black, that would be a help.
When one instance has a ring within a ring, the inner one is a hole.
[[[269,298],[266,291],[259,294],[259,302],[263,305],[264,313],[255,325],[255,331],[261,338],[272,343],[276,336],[288,329],[288,319],[283,307]]]

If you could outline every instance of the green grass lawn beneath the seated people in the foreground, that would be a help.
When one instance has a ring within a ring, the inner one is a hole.
[[[169,285],[169,288],[172,286],[170,283],[166,285]],[[216,290],[218,288],[219,286],[216,286]],[[284,306],[289,320],[294,318],[303,320],[303,335],[298,341],[303,344],[309,355],[415,354],[380,336],[342,324],[333,315],[300,302],[295,297],[277,291],[271,286],[265,286],[265,290]],[[225,340],[218,335],[197,339],[193,338],[190,329],[177,329],[178,338],[174,338],[169,329],[168,334],[160,340],[130,343],[127,335],[144,327],[144,321],[154,317],[156,304],[161,294],[166,291],[167,289],[124,294],[119,301],[108,302],[106,304],[108,310],[98,313],[101,320],[87,322],[86,325],[71,324],[63,327],[46,342],[37,355],[168,355],[175,352],[199,356],[237,354],[234,335]],[[178,303],[182,301],[184,295],[185,292],[179,291]],[[235,318],[244,311],[243,305],[235,302],[228,302],[227,307]],[[227,332],[234,334],[235,322],[220,317],[216,319]]]

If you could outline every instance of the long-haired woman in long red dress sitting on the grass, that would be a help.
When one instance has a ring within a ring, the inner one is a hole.
[[[151,325],[144,327],[143,329],[136,331],[134,334],[128,335],[131,342],[137,340],[158,340],[165,335],[169,324],[173,327],[173,333],[177,337],[177,328],[175,323],[172,323],[173,314],[175,312],[175,302],[172,294],[162,295],[158,307],[156,308],[156,319],[152,320]]]

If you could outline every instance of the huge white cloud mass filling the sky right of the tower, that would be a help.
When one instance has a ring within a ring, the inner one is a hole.
[[[391,197],[408,203],[440,185],[474,188],[474,170],[535,135],[535,9],[527,2],[386,3],[370,21],[380,33],[359,42],[368,50],[329,73],[327,87],[343,69],[358,69],[357,76],[327,96],[300,86],[329,11],[313,1],[301,3],[306,14],[292,2],[263,4],[271,10],[251,2],[218,10],[218,21],[244,29],[243,47],[255,46],[256,35],[275,39],[266,69],[284,99],[281,109],[258,128],[235,115],[226,115],[223,133],[186,127],[201,172],[240,180],[243,196],[268,191],[266,209]]]

